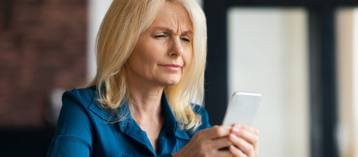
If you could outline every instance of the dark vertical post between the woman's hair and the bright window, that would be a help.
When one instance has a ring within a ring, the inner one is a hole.
[[[205,71],[205,108],[212,125],[222,123],[227,106],[226,1],[206,0],[208,55]]]

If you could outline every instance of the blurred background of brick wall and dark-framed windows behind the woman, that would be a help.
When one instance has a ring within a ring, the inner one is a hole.
[[[358,157],[357,0],[196,0],[208,25],[205,108],[262,94],[260,157]],[[111,0],[0,0],[0,156],[45,156],[61,96],[96,73]]]

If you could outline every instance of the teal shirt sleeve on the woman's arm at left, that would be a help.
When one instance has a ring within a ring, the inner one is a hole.
[[[47,157],[88,157],[92,153],[92,124],[73,91],[62,95],[62,108]]]

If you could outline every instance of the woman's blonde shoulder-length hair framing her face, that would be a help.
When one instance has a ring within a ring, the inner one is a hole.
[[[98,30],[97,73],[87,87],[97,85],[98,104],[113,112],[130,100],[124,64],[165,1],[178,3],[188,11],[193,25],[193,55],[179,83],[164,87],[164,92],[179,126],[197,129],[201,118],[191,103],[203,102],[204,98],[207,28],[205,15],[194,0],[113,0]],[[123,120],[124,115],[117,115]]]

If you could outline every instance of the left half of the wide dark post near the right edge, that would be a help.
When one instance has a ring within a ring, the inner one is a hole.
[[[309,10],[309,73],[310,73],[310,121],[311,121],[311,157],[321,157],[323,145],[322,135],[322,88],[321,88],[321,28],[319,13]]]

